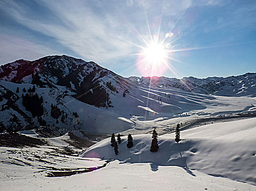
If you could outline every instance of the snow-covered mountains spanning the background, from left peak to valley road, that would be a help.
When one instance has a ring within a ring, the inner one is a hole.
[[[218,94],[207,88],[199,94],[185,89],[181,80],[177,86],[167,86],[152,78],[155,86],[149,87],[144,78],[125,78],[94,62],[65,55],[20,59],[0,66],[0,132],[39,126],[89,133],[143,132],[152,127],[169,128],[179,116],[185,123],[193,117],[255,112],[255,74],[245,74],[243,80],[242,76],[231,78],[234,87],[239,80],[239,85],[244,84],[243,93],[237,94],[241,97],[207,95]],[[203,81],[211,80],[194,79],[193,84],[195,81],[209,87]],[[215,84],[221,86],[219,83]],[[225,96],[230,96],[229,91]]]

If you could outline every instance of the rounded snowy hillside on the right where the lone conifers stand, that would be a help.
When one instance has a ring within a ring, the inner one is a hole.
[[[256,118],[215,123],[158,137],[160,149],[150,152],[151,135],[134,135],[134,147],[128,149],[122,137],[116,156],[110,138],[88,148],[81,156],[118,159],[126,163],[154,163],[195,169],[214,176],[256,183]]]

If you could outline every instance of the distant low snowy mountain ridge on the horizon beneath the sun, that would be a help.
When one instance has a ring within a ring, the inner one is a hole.
[[[183,79],[169,77],[129,77],[144,85],[153,87],[171,87],[202,94],[216,96],[248,96],[256,97],[256,73],[246,73],[230,77],[183,77]]]

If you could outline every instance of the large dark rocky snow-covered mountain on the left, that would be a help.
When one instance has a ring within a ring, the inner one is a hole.
[[[123,97],[124,93],[136,87],[133,81],[94,62],[65,55],[48,56],[36,61],[20,59],[1,65],[0,80],[1,130],[8,127],[16,127],[17,130],[23,127],[30,129],[42,120],[43,124],[47,122],[51,126],[58,126],[60,123],[61,127],[66,128],[81,127],[85,125],[80,115],[84,112],[86,121],[95,126],[97,116],[98,122],[100,116],[102,121],[107,117],[105,111],[98,108],[113,107],[111,94],[120,94]],[[35,92],[30,91],[33,86]],[[26,106],[22,104],[22,97],[26,94],[29,97],[37,94],[43,98],[43,115],[33,117],[26,111]],[[50,121],[53,123],[49,123]]]

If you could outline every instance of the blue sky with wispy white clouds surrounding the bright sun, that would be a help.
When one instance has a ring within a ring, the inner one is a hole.
[[[256,1],[0,1],[0,64],[65,54],[141,76],[157,37],[172,51],[163,76],[256,72]]]

